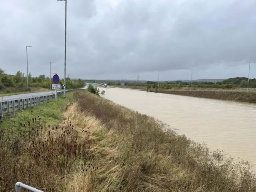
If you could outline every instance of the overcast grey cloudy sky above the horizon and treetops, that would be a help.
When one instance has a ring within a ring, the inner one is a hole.
[[[255,0],[68,0],[66,74],[256,78]],[[65,2],[0,0],[0,67],[64,76]]]

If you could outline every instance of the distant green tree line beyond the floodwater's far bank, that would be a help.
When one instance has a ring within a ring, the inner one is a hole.
[[[117,85],[120,86],[120,82],[106,82],[108,85]],[[247,88],[248,78],[246,77],[236,77],[236,78],[229,78],[223,80],[221,82],[197,82],[192,81],[193,88]],[[148,81],[145,83],[125,83],[126,86],[149,86],[149,88],[156,88],[158,87],[158,82]],[[249,80],[250,88],[256,88],[256,78]],[[159,88],[183,88],[183,87],[190,87],[190,82],[184,81],[165,81],[159,82]]]

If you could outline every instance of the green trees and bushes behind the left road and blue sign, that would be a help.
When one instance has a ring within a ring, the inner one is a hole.
[[[52,79],[51,79],[52,84]],[[61,86],[64,84],[64,79],[61,79],[59,84]],[[38,77],[32,77],[31,73],[28,74],[28,86],[36,88],[48,88],[50,89],[50,78],[46,77],[44,74]],[[81,88],[84,86],[84,81],[81,79],[70,79],[66,78],[66,88]],[[27,77],[24,73],[17,71],[15,75],[8,75],[0,68],[0,91],[5,90],[9,87],[16,87],[26,89],[27,87]]]

